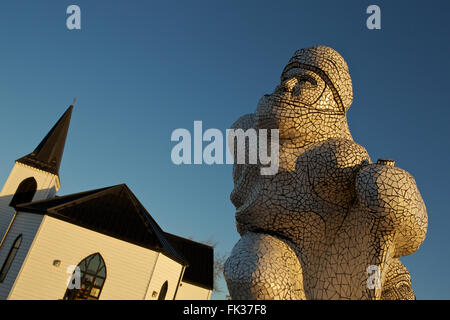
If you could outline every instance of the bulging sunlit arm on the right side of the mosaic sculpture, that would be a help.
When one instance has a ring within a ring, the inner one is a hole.
[[[373,164],[356,177],[359,205],[394,239],[394,257],[415,252],[425,239],[427,212],[414,178],[400,168]]]

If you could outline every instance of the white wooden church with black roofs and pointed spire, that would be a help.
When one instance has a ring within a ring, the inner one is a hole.
[[[213,248],[164,232],[125,184],[56,195],[72,109],[0,193],[0,299],[210,299]]]

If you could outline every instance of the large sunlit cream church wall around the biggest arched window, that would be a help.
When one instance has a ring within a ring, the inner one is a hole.
[[[62,299],[71,276],[67,268],[96,252],[102,255],[107,269],[100,299],[146,296],[157,252],[45,216],[9,298]],[[61,261],[59,267],[53,265],[54,260]]]

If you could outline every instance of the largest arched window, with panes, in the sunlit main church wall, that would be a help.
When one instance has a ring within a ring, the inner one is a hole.
[[[79,284],[76,288],[67,288],[64,300],[98,300],[106,280],[106,265],[99,253],[91,254],[81,261],[72,275],[79,276],[80,279],[75,283]]]

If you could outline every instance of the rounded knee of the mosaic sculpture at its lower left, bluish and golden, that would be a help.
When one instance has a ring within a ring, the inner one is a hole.
[[[233,299],[305,299],[296,254],[267,234],[244,234],[225,263],[224,275]]]

